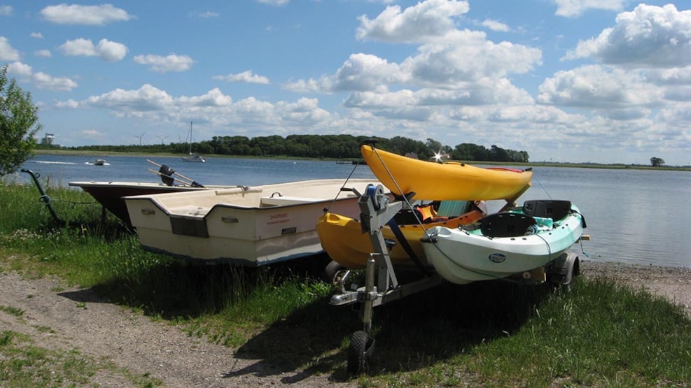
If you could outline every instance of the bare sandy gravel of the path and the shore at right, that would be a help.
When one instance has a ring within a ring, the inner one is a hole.
[[[691,317],[691,268],[629,266],[585,261],[582,275],[620,279],[634,287],[669,298]],[[0,273],[0,306],[24,310],[22,317],[0,311],[0,331],[27,333],[36,345],[77,349],[98,360],[110,360],[132,373],[164,382],[165,387],[281,386],[349,387],[328,375],[277,371],[260,359],[239,359],[232,349],[188,336],[176,326],[157,322],[107,303],[90,289],[55,291],[58,280],[27,280],[17,273]],[[49,327],[52,332],[39,330]],[[92,383],[127,387],[130,382],[108,368]]]

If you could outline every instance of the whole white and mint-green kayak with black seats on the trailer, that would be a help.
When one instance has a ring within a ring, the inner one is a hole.
[[[517,210],[484,217],[475,229],[433,227],[422,247],[435,271],[449,282],[512,275],[534,279],[580,240],[584,227],[585,219],[569,201],[526,201]]]

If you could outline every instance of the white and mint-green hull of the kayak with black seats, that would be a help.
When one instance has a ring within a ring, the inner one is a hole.
[[[467,284],[507,278],[545,266],[582,236],[579,213],[571,213],[554,224],[556,227],[549,231],[494,238],[462,229],[434,227],[428,230],[434,242],[426,241],[423,248],[435,271],[449,282]]]

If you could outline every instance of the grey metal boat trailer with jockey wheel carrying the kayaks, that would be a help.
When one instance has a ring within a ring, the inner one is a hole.
[[[499,211],[505,211],[515,206],[515,201],[527,189],[529,189],[529,185],[512,199],[507,199],[506,205]],[[330,304],[333,306],[360,303],[360,319],[363,328],[351,334],[347,365],[348,373],[358,374],[368,370],[369,360],[375,349],[375,338],[371,335],[374,308],[435,287],[445,280],[435,271],[428,271],[414,257],[412,251],[408,253],[411,254],[411,259],[417,264],[419,269],[419,274],[414,280],[405,283],[399,282],[396,271],[394,271],[391,264],[389,247],[395,245],[396,242],[384,239],[382,228],[388,224],[392,231],[394,231],[394,234],[396,234],[396,229],[398,228],[393,221],[393,216],[399,210],[411,207],[408,199],[414,196],[414,193],[408,194],[403,199],[391,201],[389,194],[384,192],[382,185],[377,185],[376,187],[373,185],[368,186],[365,194],[360,194],[355,189],[345,187],[342,188],[342,191],[354,192],[360,197],[358,206],[361,211],[361,226],[363,233],[368,233],[373,248],[373,252],[370,254],[365,266],[365,285],[357,289],[347,289],[345,282],[349,278],[351,271],[337,271],[333,278],[336,292],[330,299]],[[589,238],[585,238],[586,236],[583,237],[584,240],[589,240]],[[398,238],[398,243],[403,244],[404,248],[407,245],[403,236]],[[414,269],[412,266],[410,268]],[[578,256],[573,253],[565,253],[550,262],[548,266],[545,266],[543,274],[547,282],[553,285],[568,285],[575,275],[578,275],[578,272]]]

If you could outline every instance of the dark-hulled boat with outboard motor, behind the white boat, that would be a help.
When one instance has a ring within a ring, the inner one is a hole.
[[[211,185],[204,186],[185,175],[177,173],[165,164],[157,164],[154,161],[147,161],[158,166],[158,171],[149,169],[152,173],[160,176],[161,182],[113,182],[113,181],[81,181],[69,182],[72,187],[81,187],[100,203],[106,210],[123,220],[128,227],[132,227],[130,215],[127,213],[127,205],[123,196],[145,195],[145,194],[164,194],[174,192],[188,192],[207,189],[228,189],[233,186]]]

